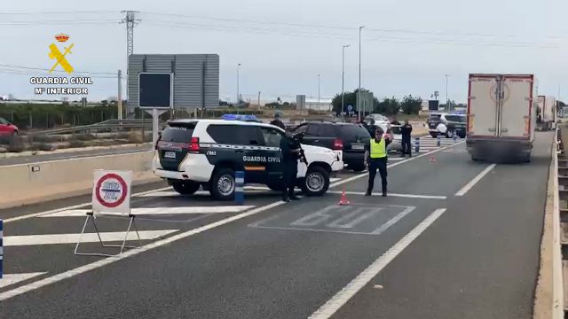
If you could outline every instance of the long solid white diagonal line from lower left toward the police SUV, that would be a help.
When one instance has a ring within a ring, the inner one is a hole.
[[[38,281],[36,281],[32,284],[22,285],[22,286],[20,286],[16,289],[11,290],[11,291],[0,292],[0,301],[7,300],[7,299],[12,298],[14,296],[18,296],[22,293],[31,292],[31,291],[36,290],[38,288],[42,288],[42,287],[44,287],[48,284],[54,284],[54,283],[57,283],[61,280],[65,280],[65,279],[73,277],[73,276],[81,275],[83,273],[86,273],[87,271],[91,271],[93,269],[106,266],[106,265],[111,264],[115,261],[122,261],[123,259],[137,255],[138,253],[144,253],[144,252],[147,252],[151,249],[160,247],[162,245],[168,245],[168,244],[173,243],[177,240],[184,239],[186,237],[190,237],[190,236],[199,234],[203,231],[215,229],[215,228],[217,228],[219,226],[223,226],[223,225],[225,225],[229,222],[238,221],[242,218],[245,218],[245,217],[248,217],[248,216],[251,216],[251,215],[254,215],[254,214],[262,213],[262,212],[269,210],[269,209],[272,209],[276,206],[283,205],[284,203],[285,202],[283,202],[283,201],[277,201],[277,202],[274,202],[274,203],[266,205],[266,206],[261,206],[261,207],[249,210],[246,213],[234,215],[234,216],[225,218],[225,219],[218,221],[218,222],[213,222],[213,223],[201,226],[201,227],[193,229],[193,230],[188,230],[188,231],[185,231],[183,233],[179,233],[179,234],[174,235],[172,237],[167,237],[167,238],[155,241],[155,242],[150,243],[148,245],[143,245],[142,247],[126,251],[125,253],[122,253],[122,254],[120,254],[116,257],[109,257],[109,258],[102,259],[100,261],[91,262],[90,264],[86,264],[86,265],[83,265],[83,266],[75,268],[75,269],[67,270],[67,271],[59,273],[55,276],[49,276],[47,278],[43,278],[42,280],[38,280]]]

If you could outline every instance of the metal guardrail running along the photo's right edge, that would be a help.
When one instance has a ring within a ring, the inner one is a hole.
[[[563,243],[563,228],[561,225],[561,214],[565,214],[565,209],[560,208],[560,201],[568,200],[568,159],[564,155],[564,144],[559,128],[556,128],[556,138],[554,141],[553,165],[555,178],[554,184],[554,206],[552,216],[552,318],[563,319],[568,315],[568,302],[564,300],[564,287],[568,284],[568,274],[564,269],[568,269],[568,256],[563,256],[563,251],[568,243]]]

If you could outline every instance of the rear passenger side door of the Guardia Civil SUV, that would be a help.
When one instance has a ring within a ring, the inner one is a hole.
[[[267,154],[263,150],[263,136],[256,125],[241,125],[239,127],[240,150],[243,167],[245,168],[246,183],[264,183],[266,179]]]

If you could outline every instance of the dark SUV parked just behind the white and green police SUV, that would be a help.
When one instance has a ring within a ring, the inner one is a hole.
[[[357,172],[365,169],[365,145],[371,136],[361,124],[312,121],[298,125],[293,132],[304,133],[303,144],[342,151],[348,168]]]

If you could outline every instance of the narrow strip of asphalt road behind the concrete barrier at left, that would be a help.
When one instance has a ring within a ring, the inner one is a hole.
[[[5,158],[5,159],[0,158],[0,166],[40,163],[49,160],[82,159],[93,156],[128,154],[131,152],[144,152],[144,151],[150,151],[150,146],[140,145],[140,146],[129,146],[129,147],[102,148],[90,151],[59,152],[52,154],[18,156],[18,157]]]

